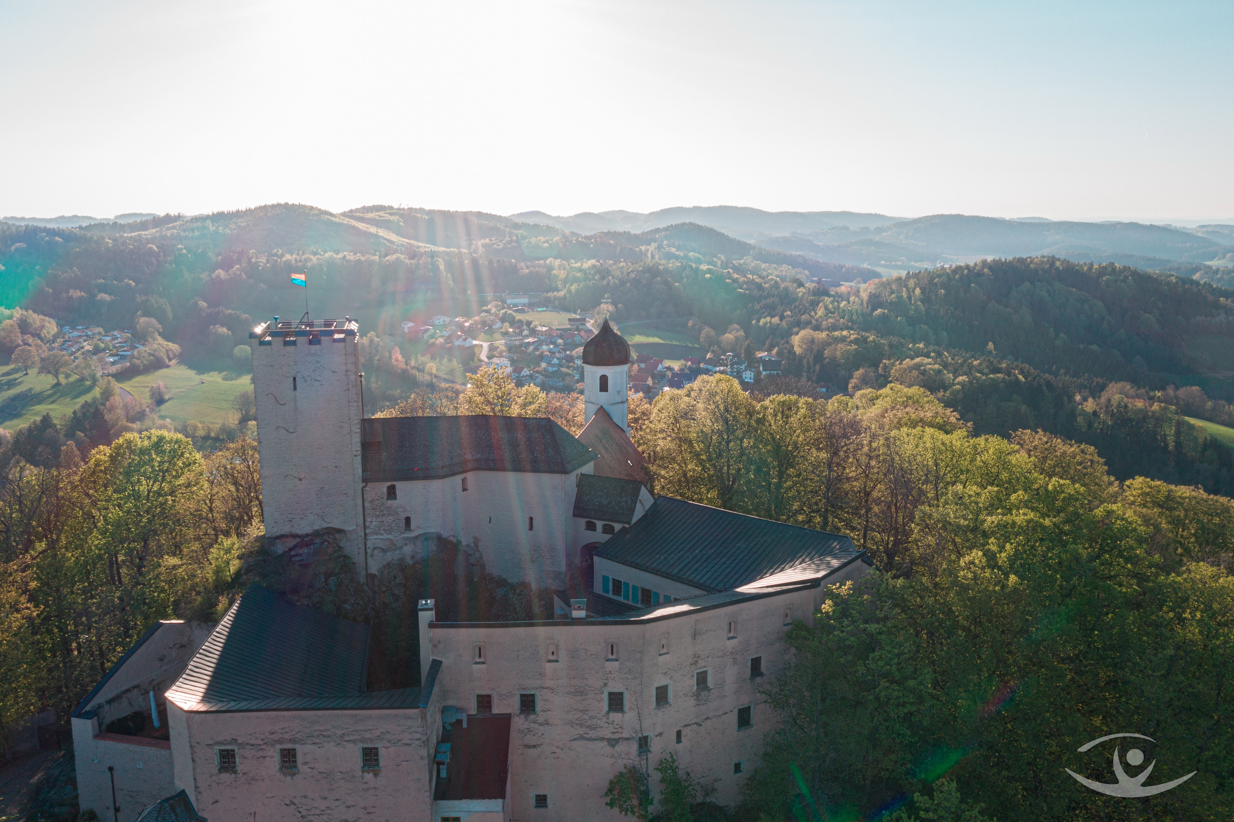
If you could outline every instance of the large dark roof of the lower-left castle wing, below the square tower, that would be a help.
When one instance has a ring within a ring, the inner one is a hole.
[[[417,689],[364,694],[368,644],[359,622],[249,585],[167,699],[186,711],[415,705]]]

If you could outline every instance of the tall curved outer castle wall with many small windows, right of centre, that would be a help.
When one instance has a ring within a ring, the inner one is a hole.
[[[868,570],[853,563],[827,580],[856,579]],[[806,589],[649,623],[555,620],[542,623],[432,623],[432,657],[442,659],[438,689],[445,705],[475,711],[476,694],[492,694],[494,711],[515,715],[511,731],[511,813],[553,820],[613,820],[605,807],[608,780],[627,764],[655,765],[665,754],[695,778],[714,780],[716,801],[734,805],[756,764],[772,715],[758,694],[765,678],[752,679],[750,657],[763,657],[772,676],[787,663],[784,612],[811,620],[823,589]],[[592,595],[597,596],[597,595]],[[728,621],[737,620],[737,637]],[[668,652],[660,653],[661,638]],[[608,662],[608,643],[618,646]],[[475,646],[484,664],[475,664]],[[549,662],[550,644],[560,662]],[[695,673],[710,670],[711,689],[695,691]],[[655,707],[655,686],[670,684],[673,700]],[[606,711],[607,690],[626,691],[624,713]],[[518,694],[537,695],[537,712],[518,713]],[[737,728],[737,710],[753,706],[754,724]],[[681,731],[681,743],[676,731]],[[638,737],[649,734],[648,762]],[[743,774],[733,763],[743,762]],[[654,780],[653,780],[654,781]],[[658,787],[658,783],[655,783]],[[549,794],[549,812],[532,808],[533,794]]]

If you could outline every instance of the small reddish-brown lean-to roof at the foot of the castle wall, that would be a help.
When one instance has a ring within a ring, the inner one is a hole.
[[[449,728],[450,760],[447,779],[437,781],[433,800],[506,799],[506,774],[510,770],[508,713],[469,716],[466,727],[455,720]]]

